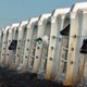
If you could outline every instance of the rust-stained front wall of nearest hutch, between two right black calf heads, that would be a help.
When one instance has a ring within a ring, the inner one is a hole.
[[[83,64],[79,67],[79,61],[83,63],[83,57],[79,53],[80,44],[86,38],[86,17],[87,11],[71,12],[70,41],[67,51],[67,66],[64,85],[74,85],[82,77]],[[83,37],[84,36],[84,37]],[[82,44],[83,45],[83,44]],[[79,72],[78,72],[79,71]]]

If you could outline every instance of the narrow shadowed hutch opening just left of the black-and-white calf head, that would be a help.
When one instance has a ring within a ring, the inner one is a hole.
[[[35,60],[35,50],[36,50],[36,45],[37,45],[37,34],[38,34],[38,26],[37,26],[37,23],[38,23],[38,18],[33,22],[32,24],[32,40],[30,40],[30,48],[29,48],[29,55],[28,55],[28,64],[27,64],[27,71],[30,72],[33,70],[33,65],[34,65],[34,60]]]

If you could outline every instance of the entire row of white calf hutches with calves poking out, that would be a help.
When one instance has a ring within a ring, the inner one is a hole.
[[[87,2],[0,30],[0,66],[73,86],[87,82]]]

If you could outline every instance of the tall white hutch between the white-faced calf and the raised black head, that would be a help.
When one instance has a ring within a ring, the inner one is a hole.
[[[57,9],[51,15],[51,35],[45,78],[54,78],[57,73],[59,72],[57,70],[59,70],[61,51],[60,45],[62,44],[60,40],[60,30],[63,29],[64,17],[69,11],[70,9]]]

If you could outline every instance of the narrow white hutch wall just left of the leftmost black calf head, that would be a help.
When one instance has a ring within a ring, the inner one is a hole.
[[[10,29],[9,29],[8,44],[7,44],[7,52],[5,52],[5,60],[4,60],[4,62],[5,62],[4,66],[7,66],[7,67],[9,67],[12,64],[12,60],[14,58],[13,51],[9,50],[9,47],[11,45],[11,41],[14,38],[14,30],[17,28],[17,26],[18,26],[18,23],[12,24],[10,26]]]

